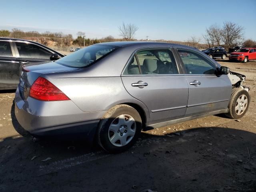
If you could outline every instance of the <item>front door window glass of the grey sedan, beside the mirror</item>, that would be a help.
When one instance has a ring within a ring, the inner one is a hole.
[[[181,57],[187,74],[216,74],[216,66],[201,54],[187,49],[178,49],[178,53],[189,55]]]

